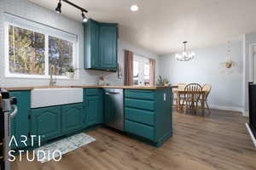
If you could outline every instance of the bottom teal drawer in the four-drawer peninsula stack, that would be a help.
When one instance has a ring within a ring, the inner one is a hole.
[[[137,122],[125,121],[125,131],[154,141],[154,127]]]

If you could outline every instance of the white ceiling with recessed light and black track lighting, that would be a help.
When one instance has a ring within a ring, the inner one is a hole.
[[[30,0],[55,10],[58,0]],[[119,23],[119,37],[155,54],[202,48],[256,31],[255,0],[70,0],[89,10],[88,16]],[[139,11],[131,12],[137,3]],[[62,3],[62,13],[81,21],[80,11]]]

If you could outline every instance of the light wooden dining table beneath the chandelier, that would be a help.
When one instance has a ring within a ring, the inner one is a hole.
[[[202,109],[203,112],[205,111],[204,108],[205,108],[205,99],[206,99],[207,90],[189,92],[189,91],[185,91],[185,88],[173,88],[172,93],[177,94],[177,111],[178,112],[183,111],[183,104],[181,103],[182,96],[188,93],[201,95],[201,108],[203,108]]]

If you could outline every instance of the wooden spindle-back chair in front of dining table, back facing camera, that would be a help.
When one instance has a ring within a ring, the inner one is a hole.
[[[185,113],[187,110],[194,111],[196,113],[199,108],[198,103],[201,101],[201,85],[198,83],[190,83],[184,88],[184,100],[183,105],[185,107]]]

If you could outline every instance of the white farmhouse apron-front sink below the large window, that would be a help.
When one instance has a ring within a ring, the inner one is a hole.
[[[35,88],[31,93],[31,107],[47,107],[83,102],[83,88]]]

